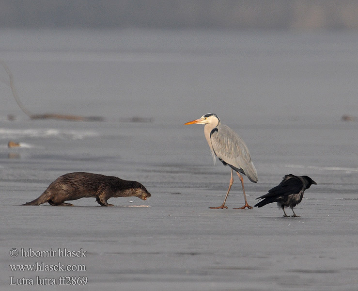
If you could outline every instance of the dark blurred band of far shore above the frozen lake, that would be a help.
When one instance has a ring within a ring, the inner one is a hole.
[[[1,0],[2,27],[357,29],[356,0]]]

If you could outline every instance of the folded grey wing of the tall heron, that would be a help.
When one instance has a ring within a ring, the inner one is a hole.
[[[257,182],[257,172],[242,138],[226,125],[219,125],[210,133],[210,141],[220,160]]]

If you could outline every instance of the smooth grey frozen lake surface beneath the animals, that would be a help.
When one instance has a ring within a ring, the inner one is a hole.
[[[8,30],[0,40],[31,113],[105,118],[30,120],[0,69],[1,289],[357,290],[358,123],[341,117],[358,116],[358,33]],[[249,146],[259,176],[244,177],[250,205],[285,174],[317,182],[300,218],[273,204],[233,210],[244,204],[236,177],[229,209],[209,209],[230,169],[213,165],[202,126],[183,125],[209,112]],[[138,180],[152,197],[18,206],[73,171]],[[127,207],[137,205],[150,207]],[[22,257],[30,248],[56,252]],[[10,267],[37,262],[86,271]],[[88,282],[64,287],[61,276]]]

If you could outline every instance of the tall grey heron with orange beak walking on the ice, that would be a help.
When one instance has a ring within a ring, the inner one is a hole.
[[[218,116],[213,113],[202,115],[202,117],[199,119],[185,123],[185,125],[187,124],[204,124],[204,135],[210,146],[214,162],[215,156],[217,156],[219,161],[221,161],[225,166],[228,165],[231,168],[229,189],[226,193],[224,202],[221,206],[210,208],[227,209],[225,202],[229,195],[231,186],[233,185],[233,170],[235,170],[241,181],[242,191],[245,198],[245,205],[243,207],[234,209],[252,209],[246,200],[244,179],[240,173],[246,175],[251,182],[256,183],[257,172],[251,161],[249,149],[242,138],[228,126],[221,124]]]

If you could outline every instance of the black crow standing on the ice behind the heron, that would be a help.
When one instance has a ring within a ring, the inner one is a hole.
[[[294,215],[291,217],[299,217],[293,208],[301,202],[303,193],[306,189],[310,188],[312,184],[317,185],[317,183],[308,176],[285,175],[278,186],[268,190],[267,194],[256,198],[264,200],[261,200],[255,206],[263,207],[268,203],[277,202],[278,207],[283,210],[283,217],[289,217],[285,212],[285,207],[290,207],[292,212],[294,212]]]

